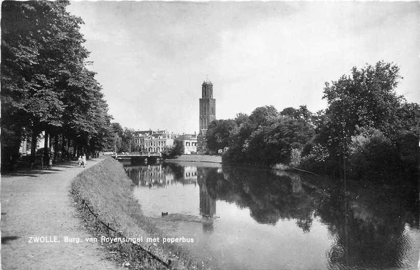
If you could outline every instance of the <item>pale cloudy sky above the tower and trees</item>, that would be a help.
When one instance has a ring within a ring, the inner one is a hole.
[[[397,93],[420,103],[420,4],[72,2],[85,21],[109,113],[123,127],[198,131],[208,76],[217,119],[306,104],[326,81],[379,60],[401,67]]]

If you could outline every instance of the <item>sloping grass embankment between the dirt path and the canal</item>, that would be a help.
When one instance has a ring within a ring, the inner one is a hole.
[[[195,261],[181,247],[168,243],[146,242],[147,237],[162,239],[163,235],[152,221],[142,215],[141,206],[132,195],[131,184],[123,166],[112,158],[83,171],[74,179],[72,194],[88,228],[95,231],[98,242],[101,243],[102,235],[121,238],[143,236],[143,242],[139,243],[141,247],[131,242],[103,244],[112,253],[118,253],[116,260],[133,269],[167,269],[167,266],[153,259],[142,248],[170,264],[171,269],[197,269]],[[97,218],[90,213],[86,205]],[[104,224],[117,233],[108,230]]]

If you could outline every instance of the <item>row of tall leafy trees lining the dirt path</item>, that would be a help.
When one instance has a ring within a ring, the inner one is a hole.
[[[2,2],[2,169],[18,157],[23,139],[35,155],[44,132],[54,154],[92,153],[111,140],[111,116],[80,33],[83,21],[67,1]],[[50,151],[43,151],[44,161]],[[34,158],[34,156],[33,156]],[[56,156],[54,156],[56,158]]]

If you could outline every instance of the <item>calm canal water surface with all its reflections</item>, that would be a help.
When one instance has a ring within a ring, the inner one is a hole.
[[[417,185],[210,163],[125,169],[143,213],[166,236],[193,238],[180,244],[209,268],[416,269],[419,263]]]

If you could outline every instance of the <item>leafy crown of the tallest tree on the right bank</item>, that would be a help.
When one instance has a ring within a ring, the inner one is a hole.
[[[351,75],[325,83],[323,99],[329,106],[319,131],[333,151],[344,151],[360,127],[392,132],[401,103],[395,94],[400,78],[398,66],[378,62],[361,70],[353,68]]]

